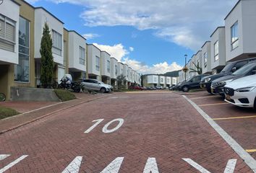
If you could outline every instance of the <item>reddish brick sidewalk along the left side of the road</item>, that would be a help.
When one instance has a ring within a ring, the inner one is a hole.
[[[1,102],[0,106],[10,107],[21,112],[21,114],[0,120],[0,134],[19,128],[22,125],[32,123],[36,120],[40,120],[41,118],[56,112],[66,110],[70,107],[111,95],[112,94],[76,93],[75,96],[77,99],[67,102]]]

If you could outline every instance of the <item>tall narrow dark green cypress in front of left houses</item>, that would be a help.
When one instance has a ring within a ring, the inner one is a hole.
[[[41,77],[40,81],[44,88],[51,86],[51,80],[54,76],[54,57],[51,51],[52,40],[50,30],[45,23],[43,27],[43,37],[40,44],[41,54]]]

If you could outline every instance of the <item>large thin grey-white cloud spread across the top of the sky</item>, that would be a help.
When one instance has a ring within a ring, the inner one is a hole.
[[[54,0],[51,0],[54,1]],[[126,25],[138,30],[155,30],[165,40],[197,50],[237,0],[59,0],[56,3],[87,7],[80,15],[85,25]]]

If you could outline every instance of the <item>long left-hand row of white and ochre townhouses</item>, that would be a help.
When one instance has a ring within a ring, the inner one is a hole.
[[[120,63],[106,51],[87,44],[74,30],[43,7],[34,7],[24,0],[4,0],[0,5],[0,92],[10,98],[12,86],[40,85],[40,42],[45,23],[53,41],[54,78],[72,74],[73,80],[98,79],[117,86],[123,74],[127,87],[140,84],[140,74]]]

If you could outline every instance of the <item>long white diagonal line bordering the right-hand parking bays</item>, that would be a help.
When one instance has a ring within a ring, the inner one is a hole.
[[[244,162],[248,165],[250,169],[252,169],[253,172],[256,173],[256,161],[253,159],[251,155],[247,153],[247,151],[242,148],[242,146],[239,145],[231,136],[229,136],[228,133],[226,133],[223,128],[221,128],[217,123],[215,123],[214,120],[210,118],[210,116],[205,113],[200,107],[198,107],[195,102],[192,102],[191,99],[187,98],[186,96],[183,95],[185,99],[197,110],[197,112],[202,115],[202,117],[205,118],[205,120],[208,121],[208,123],[216,130],[216,132],[226,141],[226,143],[233,148],[233,150],[238,154]]]

